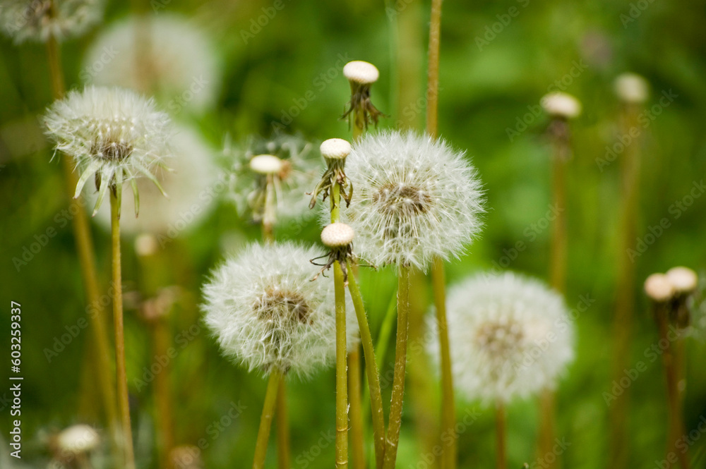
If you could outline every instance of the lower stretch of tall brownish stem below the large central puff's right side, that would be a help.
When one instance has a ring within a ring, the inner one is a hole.
[[[431,267],[431,284],[436,306],[436,324],[441,350],[441,435],[447,441],[441,453],[441,468],[453,469],[456,462],[457,435],[456,410],[453,397],[453,375],[451,374],[451,354],[446,323],[446,290],[443,260],[436,257]]]

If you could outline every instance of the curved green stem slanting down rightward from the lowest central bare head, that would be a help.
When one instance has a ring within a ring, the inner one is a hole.
[[[352,267],[352,263],[349,261],[349,272],[352,272]],[[385,453],[385,411],[383,410],[383,398],[380,391],[380,374],[375,358],[375,349],[373,348],[373,338],[370,334],[370,326],[365,314],[363,298],[358,288],[358,281],[354,275],[348,277],[348,291],[351,294],[355,313],[358,318],[360,341],[363,346],[365,371],[370,392],[371,413],[373,415],[373,444],[375,446],[376,467],[381,468],[383,455]]]

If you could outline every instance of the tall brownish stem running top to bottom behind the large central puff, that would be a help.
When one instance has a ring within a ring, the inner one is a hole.
[[[431,21],[429,25],[429,59],[426,74],[426,131],[432,138],[438,135],[438,89],[439,61],[441,49],[441,2],[431,1]],[[455,437],[455,408],[453,397],[453,377],[451,375],[451,357],[448,346],[446,326],[446,291],[443,260],[438,257],[431,267],[431,282],[436,306],[436,324],[441,348],[441,434],[451,434],[448,446],[441,454],[441,468],[456,467],[457,443]]]

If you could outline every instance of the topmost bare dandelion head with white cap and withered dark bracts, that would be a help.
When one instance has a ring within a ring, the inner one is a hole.
[[[370,100],[370,88],[378,80],[380,73],[376,66],[365,61],[352,61],[343,67],[343,76],[351,86],[351,100],[348,110],[343,117],[355,121],[357,128],[368,128],[368,123],[373,121],[378,125],[378,118],[383,113],[378,111]]]

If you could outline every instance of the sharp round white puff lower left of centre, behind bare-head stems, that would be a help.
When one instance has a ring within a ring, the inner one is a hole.
[[[319,252],[293,243],[251,245],[227,260],[203,288],[205,322],[222,353],[249,370],[308,376],[335,361],[333,281],[311,281]],[[346,305],[348,346],[358,325]]]

